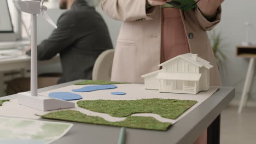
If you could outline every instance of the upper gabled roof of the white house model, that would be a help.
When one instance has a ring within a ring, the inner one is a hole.
[[[194,58],[195,59],[194,59]],[[205,59],[202,59],[201,57],[198,57],[197,55],[193,55],[192,53],[186,53],[183,55],[179,55],[177,57],[174,57],[164,63],[159,64],[158,66],[161,67],[171,61],[173,61],[174,59],[177,58],[183,58],[185,61],[191,62],[195,65],[197,65],[198,67],[202,68],[202,67],[206,67],[207,69],[211,69],[213,66],[210,64],[210,62],[206,61]]]

